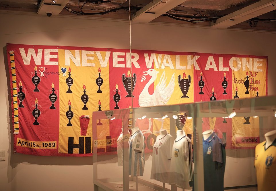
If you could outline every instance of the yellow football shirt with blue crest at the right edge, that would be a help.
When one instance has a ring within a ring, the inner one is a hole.
[[[258,191],[273,191],[276,189],[276,139],[267,149],[265,143],[255,148]]]

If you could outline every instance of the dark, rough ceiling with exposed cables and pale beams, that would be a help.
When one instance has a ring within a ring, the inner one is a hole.
[[[55,3],[56,2],[56,3]],[[0,11],[129,19],[128,0],[0,0]],[[274,4],[275,3],[275,4]],[[135,22],[276,31],[272,0],[131,0]]]

